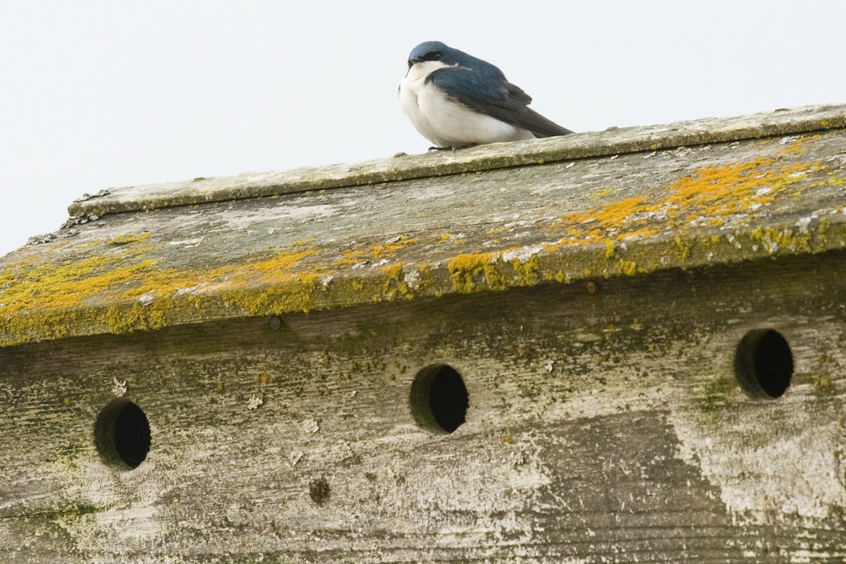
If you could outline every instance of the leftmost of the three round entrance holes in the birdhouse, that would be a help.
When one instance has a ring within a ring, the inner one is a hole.
[[[97,415],[94,443],[102,459],[118,468],[137,468],[150,452],[150,423],[135,403],[109,402]]]

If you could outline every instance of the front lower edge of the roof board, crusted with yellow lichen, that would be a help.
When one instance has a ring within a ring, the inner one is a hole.
[[[210,279],[189,288],[165,283],[141,298],[92,297],[82,306],[47,306],[0,316],[0,349],[69,337],[122,335],[518,287],[572,287],[672,270],[772,265],[772,259],[778,257],[843,253],[846,220],[842,215],[816,217],[801,228],[794,222],[782,222],[766,228],[667,235],[628,244],[608,240],[573,247],[545,242],[459,253],[435,264],[398,261],[370,269],[281,272],[273,281],[247,286],[239,285],[237,277],[221,282]]]

